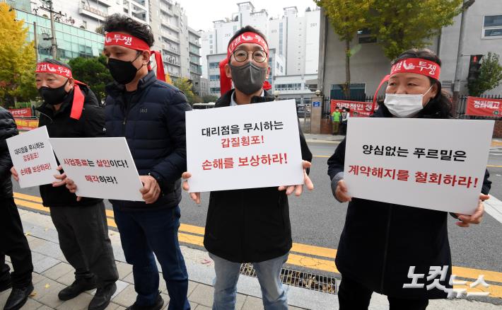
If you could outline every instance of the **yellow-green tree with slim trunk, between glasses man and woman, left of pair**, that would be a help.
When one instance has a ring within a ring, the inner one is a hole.
[[[345,42],[345,84],[344,96],[350,97],[351,71],[350,59],[354,52],[351,50],[351,41],[358,30],[368,28],[369,8],[375,0],[314,0],[317,6],[324,8],[326,16],[331,23],[334,33]]]

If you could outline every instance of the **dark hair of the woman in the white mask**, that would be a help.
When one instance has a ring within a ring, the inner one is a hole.
[[[390,64],[394,65],[397,62],[408,58],[426,59],[431,62],[436,62],[436,64],[438,64],[438,66],[441,67],[441,59],[439,59],[438,55],[436,55],[435,52],[428,50],[426,48],[421,50],[413,48],[411,50],[402,52],[402,54],[400,54],[396,59],[392,60]],[[448,93],[445,93],[441,89],[440,81],[433,79],[430,76],[428,76],[428,79],[429,81],[431,81],[431,85],[436,84],[436,86],[438,86],[438,93],[436,94],[436,97],[432,98],[431,101],[425,106],[424,110],[422,110],[422,113],[424,115],[437,114],[443,118],[452,117],[452,111],[451,111],[452,104],[450,99],[448,98]]]

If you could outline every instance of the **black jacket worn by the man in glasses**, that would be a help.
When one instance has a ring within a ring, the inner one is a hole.
[[[233,90],[216,101],[215,108],[230,105]],[[274,101],[255,97],[252,103]],[[300,129],[302,159],[312,161]],[[259,263],[291,249],[291,223],[286,191],[248,188],[211,192],[204,246],[207,251],[235,263]]]

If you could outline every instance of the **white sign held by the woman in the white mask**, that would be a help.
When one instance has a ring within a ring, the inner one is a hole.
[[[473,214],[494,121],[350,118],[344,180],[352,197]]]

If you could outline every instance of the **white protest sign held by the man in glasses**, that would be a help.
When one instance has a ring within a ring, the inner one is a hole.
[[[303,184],[294,100],[186,113],[190,192]]]

